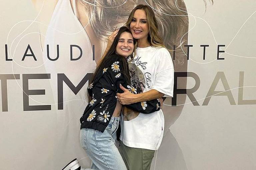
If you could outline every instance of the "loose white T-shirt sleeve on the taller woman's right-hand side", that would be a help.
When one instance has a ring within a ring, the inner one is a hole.
[[[163,97],[173,97],[174,67],[171,55],[166,48],[159,52],[159,62],[156,65],[155,83],[152,89],[163,93]]]

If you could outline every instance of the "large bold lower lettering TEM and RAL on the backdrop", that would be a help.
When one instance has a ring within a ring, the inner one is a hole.
[[[57,105],[58,110],[63,110],[63,104],[64,99],[63,95],[67,91],[63,90],[63,86],[67,86],[70,91],[74,93],[74,95],[77,95],[78,92],[83,88],[84,90],[87,89],[88,82],[92,78],[93,73],[87,73],[85,76],[81,76],[81,81],[77,83],[72,83],[71,79],[68,78],[64,73],[57,73],[56,74],[0,74],[0,81],[1,81],[1,97],[2,97],[2,112],[8,112],[8,105],[12,105],[12,107],[17,106],[17,103],[8,103],[8,94],[12,92],[8,92],[8,86],[13,86],[12,80],[16,81],[22,81],[22,91],[23,95],[18,96],[16,95],[15,98],[23,98],[23,111],[39,111],[39,110],[51,110],[51,105],[30,105],[29,104],[29,96],[32,95],[40,95],[43,98],[49,97],[48,95],[54,95],[48,94],[46,95],[45,91],[48,91],[50,89],[33,89],[31,90],[29,88],[29,80],[34,79],[38,81],[39,83],[45,83],[46,81],[51,81],[52,76],[57,76]],[[21,78],[22,77],[22,78]],[[187,78],[191,77],[195,80],[195,85],[192,88],[189,89],[180,89],[178,88],[178,79],[179,78]],[[55,77],[56,78],[56,77]],[[22,79],[22,80],[20,80]],[[7,84],[8,81],[8,84]],[[224,87],[223,91],[216,90],[217,84],[221,83]],[[64,83],[66,85],[64,85]],[[76,85],[77,84],[77,85]],[[256,100],[252,99],[244,99],[244,71],[239,72],[239,82],[238,82],[238,98],[237,98],[237,104],[238,105],[256,105]],[[200,89],[200,78],[199,76],[194,72],[175,72],[174,73],[174,89],[173,89],[173,97],[172,97],[172,106],[178,106],[177,105],[177,98],[178,95],[184,94],[187,95],[189,100],[194,106],[200,106],[198,103],[198,100],[196,99],[195,95],[197,91]],[[216,76],[212,80],[211,86],[207,92],[206,97],[204,98],[203,104],[201,106],[207,106],[210,102],[210,99],[213,96],[221,96],[217,97],[219,98],[227,98],[230,102],[230,105],[237,105],[235,102],[235,98],[231,92],[232,89],[230,89],[230,85],[227,81],[227,78],[225,76],[225,73],[223,71],[217,72]],[[7,94],[8,92],[8,94]],[[200,92],[201,93],[201,92]],[[10,94],[9,94],[10,95]],[[11,94],[13,95],[13,94]],[[70,98],[74,97],[74,95],[71,95]],[[85,95],[86,96],[86,95]],[[201,99],[200,99],[201,100]],[[183,105],[183,104],[182,104]]]

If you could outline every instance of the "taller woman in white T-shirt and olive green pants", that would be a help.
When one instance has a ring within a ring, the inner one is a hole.
[[[133,63],[145,79],[144,93],[133,94],[120,85],[117,94],[123,105],[173,96],[174,67],[169,51],[158,33],[155,14],[147,5],[136,6],[126,23],[138,47]],[[136,72],[135,72],[136,74]],[[137,76],[139,77],[139,76]],[[135,87],[139,88],[139,87]],[[126,114],[126,113],[124,113]],[[122,118],[124,118],[122,116]],[[121,121],[120,144],[127,169],[149,170],[154,152],[160,147],[164,131],[162,110],[152,114],[139,113],[130,121]]]

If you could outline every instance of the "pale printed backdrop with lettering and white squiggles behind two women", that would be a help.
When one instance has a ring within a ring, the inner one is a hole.
[[[0,169],[90,167],[88,80],[138,4],[153,8],[175,70],[151,170],[256,169],[255,0],[1,1]]]

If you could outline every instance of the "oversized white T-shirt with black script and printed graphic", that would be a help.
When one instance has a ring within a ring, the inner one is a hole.
[[[132,63],[139,68],[134,69],[136,76],[144,75],[144,80],[138,81],[145,83],[142,85],[143,92],[155,89],[165,94],[165,97],[173,97],[174,68],[166,48],[138,47]],[[121,114],[120,140],[126,146],[157,150],[162,142],[163,132],[164,115],[161,109],[151,114],[140,113],[130,121],[123,121]]]

